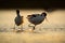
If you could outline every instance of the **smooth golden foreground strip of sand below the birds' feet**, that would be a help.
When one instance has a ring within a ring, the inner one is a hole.
[[[65,43],[65,32],[0,32],[0,43]]]

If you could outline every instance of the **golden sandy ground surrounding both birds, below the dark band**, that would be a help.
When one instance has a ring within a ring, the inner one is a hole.
[[[24,16],[24,29],[29,28],[27,15],[41,14],[42,12],[44,10],[21,10],[21,16]],[[12,32],[11,28],[14,27],[15,17],[15,10],[0,10],[0,43],[65,43],[65,10],[48,12],[49,22],[44,20],[36,27],[36,29],[46,28],[40,33]]]

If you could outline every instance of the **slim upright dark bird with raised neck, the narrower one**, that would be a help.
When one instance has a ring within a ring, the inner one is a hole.
[[[22,25],[22,29],[21,29],[22,31],[23,31],[23,17],[24,16],[20,15],[20,10],[16,10],[16,17],[15,17],[14,22],[15,22],[16,26],[21,26]],[[17,30],[17,32],[20,32],[21,30]]]

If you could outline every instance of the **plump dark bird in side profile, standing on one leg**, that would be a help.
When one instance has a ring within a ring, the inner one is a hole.
[[[34,27],[32,31],[35,30],[35,27],[39,24],[41,24],[44,19],[47,19],[47,13],[42,12],[41,14],[31,14],[31,15],[27,15],[26,17],[28,19],[28,22],[30,24],[34,24],[35,26],[30,26],[30,24],[28,25],[29,27]]]

